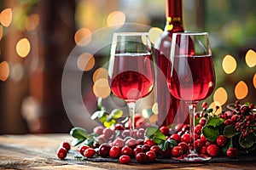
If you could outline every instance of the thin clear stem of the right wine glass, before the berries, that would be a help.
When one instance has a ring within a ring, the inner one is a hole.
[[[195,108],[197,102],[189,103],[189,134],[190,134],[190,144],[189,153],[196,153],[195,151]]]

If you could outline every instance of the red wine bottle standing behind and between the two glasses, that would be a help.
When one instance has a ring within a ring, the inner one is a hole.
[[[170,94],[166,85],[167,67],[170,64],[169,55],[172,33],[183,32],[182,0],[166,0],[166,26],[155,42],[156,94],[159,108],[158,122],[160,126],[188,123],[188,106]]]

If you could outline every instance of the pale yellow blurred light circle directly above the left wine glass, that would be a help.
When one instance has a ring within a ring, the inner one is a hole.
[[[123,26],[125,24],[125,14],[121,11],[113,11],[108,14],[107,24],[108,26],[114,26],[115,29]]]

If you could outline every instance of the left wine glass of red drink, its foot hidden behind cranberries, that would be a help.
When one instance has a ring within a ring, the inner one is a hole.
[[[137,99],[150,94],[154,87],[154,65],[147,32],[113,33],[108,77],[113,94],[125,99],[128,105],[133,133]]]

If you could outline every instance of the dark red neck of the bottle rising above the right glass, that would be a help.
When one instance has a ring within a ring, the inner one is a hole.
[[[166,0],[165,31],[183,31],[182,0]]]

